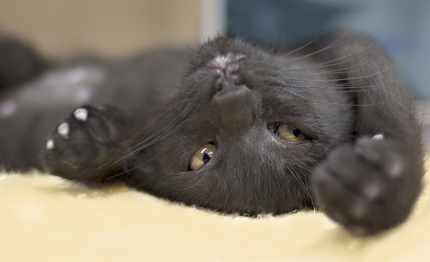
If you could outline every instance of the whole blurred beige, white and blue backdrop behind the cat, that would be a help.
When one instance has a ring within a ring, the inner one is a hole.
[[[160,45],[193,46],[227,30],[284,44],[352,27],[376,37],[415,94],[430,97],[429,14],[429,0],[0,0],[0,30],[51,57],[118,57]]]

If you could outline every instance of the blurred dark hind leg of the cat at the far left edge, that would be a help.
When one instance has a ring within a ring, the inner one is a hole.
[[[27,43],[0,34],[0,93],[26,82],[48,68]]]

